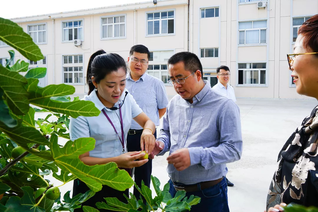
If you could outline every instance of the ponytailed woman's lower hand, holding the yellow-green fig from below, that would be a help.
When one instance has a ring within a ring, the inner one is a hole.
[[[138,166],[142,166],[146,162],[148,162],[148,159],[135,161],[140,157],[145,156],[145,153],[139,154],[140,151],[135,152],[127,152],[124,154],[121,154],[120,156],[114,157],[114,162],[117,163],[118,167],[122,168],[134,168]]]

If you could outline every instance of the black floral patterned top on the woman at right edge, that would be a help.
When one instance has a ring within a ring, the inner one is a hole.
[[[318,106],[289,137],[267,196],[266,210],[294,202],[318,206]]]

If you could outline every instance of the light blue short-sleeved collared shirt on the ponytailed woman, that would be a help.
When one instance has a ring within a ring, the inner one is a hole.
[[[114,107],[119,107],[125,97],[125,91],[119,98],[118,102],[114,104]],[[103,103],[98,99],[95,90],[90,95],[85,96],[83,100],[91,101],[95,104],[95,107],[99,110],[104,109],[110,120],[113,122],[120,138],[121,138],[121,123],[118,110],[107,109]],[[116,115],[117,113],[117,115]],[[123,120],[125,151],[127,152],[126,138],[128,130],[131,125],[131,120],[142,113],[142,109],[138,106],[133,96],[130,93],[127,94],[124,104],[121,107],[121,115]],[[92,137],[96,140],[95,149],[89,152],[91,157],[109,158],[122,154],[122,145],[118,135],[114,128],[107,120],[103,112],[100,112],[98,116],[79,116],[77,118],[71,118],[70,120],[70,138],[72,141],[77,138]]]

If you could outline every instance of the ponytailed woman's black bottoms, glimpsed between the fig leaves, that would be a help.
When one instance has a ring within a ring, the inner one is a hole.
[[[89,188],[87,185],[80,181],[79,179],[75,179],[73,182],[73,197],[82,193],[84,194],[86,191],[88,191]],[[90,199],[86,200],[81,204],[81,206],[91,206],[93,208],[97,209],[96,202],[106,202],[104,199],[105,197],[117,197],[117,199],[121,202],[128,203],[126,198],[124,197],[124,194],[129,197],[129,190],[126,189],[125,191],[119,191],[116,189],[113,189],[109,186],[103,185],[102,189],[99,192],[96,192],[96,194],[91,197]],[[106,209],[99,209],[100,212],[114,212],[114,210],[106,210]],[[75,209],[74,212],[83,212],[82,208]]]

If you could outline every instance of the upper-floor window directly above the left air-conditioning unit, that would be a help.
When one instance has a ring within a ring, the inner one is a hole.
[[[63,22],[63,41],[83,39],[83,20]]]

